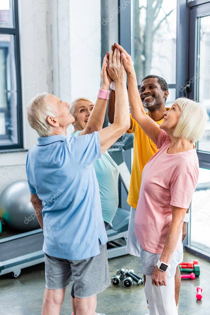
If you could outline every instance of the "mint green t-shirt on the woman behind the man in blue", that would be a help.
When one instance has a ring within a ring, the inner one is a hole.
[[[79,136],[81,130],[71,136]],[[82,137],[82,136],[81,136]],[[93,163],[100,190],[102,216],[105,222],[112,225],[112,219],[118,208],[118,177],[119,167],[105,151],[101,158]]]

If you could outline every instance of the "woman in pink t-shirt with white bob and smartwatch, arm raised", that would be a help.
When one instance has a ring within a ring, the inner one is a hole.
[[[150,314],[177,315],[174,275],[182,261],[183,220],[199,170],[193,143],[204,133],[207,112],[202,104],[179,98],[163,113],[164,121],[158,126],[143,108],[130,55],[116,47],[128,74],[131,115],[159,149],[143,169],[134,220],[146,275],[145,294]],[[155,89],[144,93],[152,106]]]

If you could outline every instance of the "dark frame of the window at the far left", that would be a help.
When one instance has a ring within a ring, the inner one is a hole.
[[[13,27],[0,27],[0,34],[14,36],[14,58],[17,86],[17,130],[18,142],[9,145],[0,145],[0,153],[11,149],[23,148],[23,119],[22,119],[22,95],[20,74],[20,47],[19,47],[19,22],[18,22],[18,0],[13,0]]]

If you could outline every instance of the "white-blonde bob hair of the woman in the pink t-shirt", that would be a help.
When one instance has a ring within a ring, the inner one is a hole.
[[[175,100],[181,110],[181,116],[174,129],[174,137],[185,138],[195,143],[201,139],[207,122],[207,111],[201,103],[180,97]]]

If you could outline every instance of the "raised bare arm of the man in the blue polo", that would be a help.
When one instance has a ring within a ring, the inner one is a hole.
[[[114,54],[110,52],[109,68],[115,81],[115,112],[113,124],[99,131],[102,153],[110,148],[130,126],[126,72],[123,61],[120,60],[120,51],[117,49]]]

